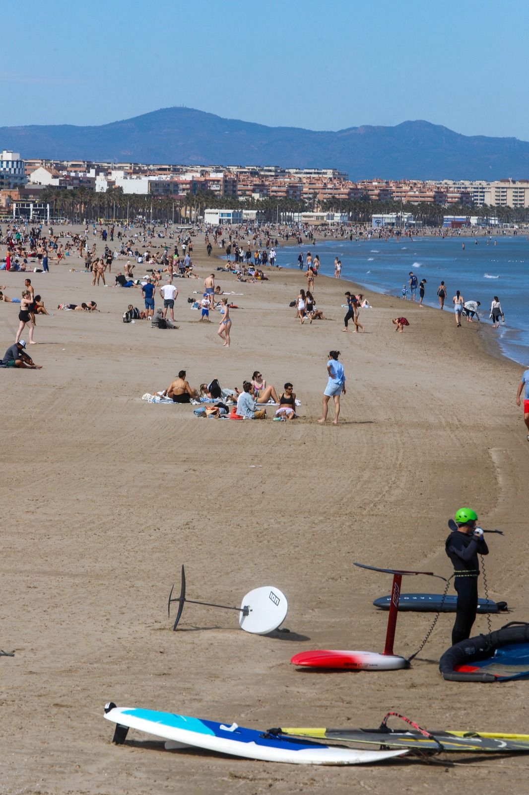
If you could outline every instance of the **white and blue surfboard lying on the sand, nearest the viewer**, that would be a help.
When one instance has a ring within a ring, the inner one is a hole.
[[[105,707],[107,720],[116,723],[114,743],[121,745],[129,729],[145,731],[166,740],[168,749],[195,747],[230,756],[261,759],[264,762],[292,762],[302,765],[360,765],[381,762],[402,756],[407,750],[355,750],[326,746],[291,737],[276,737],[267,732],[237,726],[237,723],[215,723],[213,720],[155,712],[151,709]]]

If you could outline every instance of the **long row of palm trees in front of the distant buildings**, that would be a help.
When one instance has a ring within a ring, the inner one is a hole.
[[[106,192],[95,192],[89,188],[46,187],[39,192],[39,200],[50,204],[52,217],[64,217],[71,221],[91,222],[98,219],[129,220],[144,219],[148,223],[170,222],[184,225],[195,223],[206,207],[218,209],[249,209],[264,211],[268,221],[293,220],[295,214],[304,211],[334,211],[347,215],[351,223],[368,224],[377,213],[409,212],[425,226],[441,227],[443,215],[481,215],[496,217],[500,223],[527,223],[529,208],[472,207],[451,204],[401,204],[400,201],[372,201],[367,196],[354,200],[330,199],[318,203],[315,196],[308,202],[302,199],[275,199],[268,196],[257,200],[238,200],[236,196],[217,196],[215,193],[187,193],[183,197],[141,195],[123,193],[122,188],[108,188]]]

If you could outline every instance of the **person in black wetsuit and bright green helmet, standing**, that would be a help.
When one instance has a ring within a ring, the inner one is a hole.
[[[477,513],[460,508],[455,515],[458,529],[446,539],[446,554],[454,564],[454,587],[458,591],[456,620],[452,630],[452,646],[470,637],[477,613],[477,578],[480,567],[477,556],[488,555],[483,530],[477,527]]]

